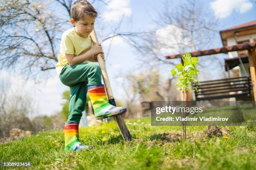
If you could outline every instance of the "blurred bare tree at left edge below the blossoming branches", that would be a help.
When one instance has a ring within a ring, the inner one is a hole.
[[[34,131],[29,116],[36,110],[28,93],[13,90],[8,78],[0,79],[0,138],[8,137],[12,128]]]

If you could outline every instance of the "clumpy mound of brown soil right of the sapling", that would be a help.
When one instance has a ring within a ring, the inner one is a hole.
[[[222,137],[223,135],[229,135],[231,134],[231,130],[228,130],[227,128],[219,128],[215,124],[209,125],[208,128],[204,131],[204,133],[208,137]]]

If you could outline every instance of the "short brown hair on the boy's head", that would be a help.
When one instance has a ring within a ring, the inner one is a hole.
[[[83,20],[86,14],[89,14],[93,17],[97,17],[98,13],[95,8],[87,0],[77,0],[71,6],[71,18],[74,21]]]

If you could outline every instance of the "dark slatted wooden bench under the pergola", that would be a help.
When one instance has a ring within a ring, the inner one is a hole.
[[[215,100],[230,97],[248,97],[253,100],[251,95],[251,77],[236,77],[220,80],[203,81],[200,85],[193,84],[197,87],[195,90],[196,100]]]

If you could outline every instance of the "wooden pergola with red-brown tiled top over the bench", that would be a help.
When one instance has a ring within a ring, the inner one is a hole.
[[[251,82],[252,82],[253,100],[256,101],[255,48],[256,48],[256,42],[249,42],[249,43],[224,46],[224,47],[214,48],[214,49],[209,49],[209,50],[197,50],[197,51],[190,52],[190,54],[192,57],[201,57],[201,56],[205,56],[205,55],[214,55],[214,54],[227,53],[227,52],[233,52],[233,51],[248,50],[248,60],[249,60],[250,75],[251,75]],[[166,59],[181,58],[182,55],[184,55],[184,53],[168,55],[168,56],[166,56]],[[183,64],[183,61],[182,61],[182,64]],[[188,94],[187,94],[187,100],[189,100]]]

